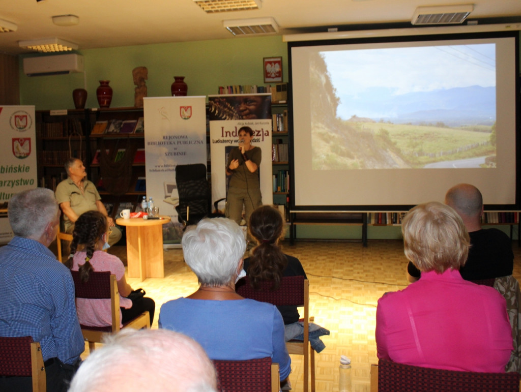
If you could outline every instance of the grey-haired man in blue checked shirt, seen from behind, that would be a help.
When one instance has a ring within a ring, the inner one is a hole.
[[[15,237],[0,248],[0,336],[40,342],[48,391],[66,391],[85,345],[67,267],[47,249],[60,210],[53,191],[30,189],[11,197]],[[0,377],[0,390],[32,391],[31,377]]]

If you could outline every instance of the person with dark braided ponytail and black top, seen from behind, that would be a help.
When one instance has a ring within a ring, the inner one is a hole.
[[[251,257],[244,260],[244,270],[254,289],[258,289],[262,281],[271,281],[271,288],[275,290],[280,286],[282,276],[304,276],[307,279],[299,259],[284,254],[279,246],[279,241],[284,237],[284,220],[278,209],[271,206],[257,208],[251,214],[248,229],[258,244],[253,248]],[[303,339],[304,327],[299,323],[297,307],[277,308],[284,321],[286,342]],[[322,335],[329,335],[329,331],[319,325],[309,324],[309,342],[317,352],[325,347],[318,338]]]

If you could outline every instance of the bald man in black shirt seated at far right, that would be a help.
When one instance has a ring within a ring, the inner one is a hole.
[[[467,281],[512,275],[514,254],[511,239],[501,230],[482,229],[483,197],[474,185],[458,184],[445,195],[445,204],[463,219],[470,235],[470,250],[460,273]],[[420,271],[412,262],[407,265],[408,280],[416,282]]]

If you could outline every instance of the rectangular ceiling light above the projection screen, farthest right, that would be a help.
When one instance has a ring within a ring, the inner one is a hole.
[[[474,10],[473,4],[418,7],[414,11],[412,24],[458,24],[463,23]]]

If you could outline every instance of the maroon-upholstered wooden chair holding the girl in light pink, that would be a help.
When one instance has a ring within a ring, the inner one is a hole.
[[[103,336],[107,333],[116,333],[120,330],[121,318],[119,309],[119,291],[116,275],[110,271],[91,271],[89,280],[82,282],[78,271],[71,271],[72,280],[76,288],[76,298],[110,299],[112,313],[112,325],[107,327],[93,327],[80,325],[83,338],[89,342],[89,350],[94,350],[95,343],[102,343]],[[150,315],[148,311],[123,324],[123,327],[135,329],[150,328]]]

